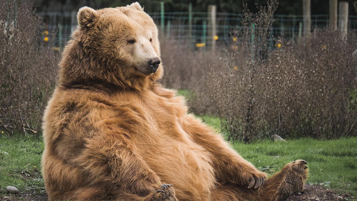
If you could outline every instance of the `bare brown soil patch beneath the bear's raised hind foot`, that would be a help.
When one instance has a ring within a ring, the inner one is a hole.
[[[341,196],[341,197],[338,197]],[[292,195],[286,199],[286,201],[304,201],[304,200],[316,200],[316,201],[345,201],[354,200],[354,197],[343,193],[338,194],[332,189],[324,188],[322,186],[313,186],[305,184],[305,189],[301,192],[301,195]]]

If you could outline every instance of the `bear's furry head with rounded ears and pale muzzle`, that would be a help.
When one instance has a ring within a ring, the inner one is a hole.
[[[157,27],[139,3],[83,7],[60,62],[60,84],[143,90],[162,76]]]

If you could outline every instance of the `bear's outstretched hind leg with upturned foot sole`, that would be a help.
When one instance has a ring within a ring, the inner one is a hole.
[[[308,173],[306,163],[303,160],[288,163],[258,189],[222,184],[212,192],[211,200],[285,200],[303,190]]]

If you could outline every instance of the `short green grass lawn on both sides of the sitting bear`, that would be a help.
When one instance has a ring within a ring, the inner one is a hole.
[[[202,119],[219,128],[216,118],[203,116]],[[270,175],[288,162],[306,160],[310,168],[307,183],[330,182],[328,188],[357,197],[357,137],[336,140],[302,138],[287,142],[266,140],[252,144],[233,142],[231,145],[246,160]],[[41,178],[43,148],[42,139],[0,136],[0,196],[5,195],[8,185],[17,187],[22,193],[44,194]]]

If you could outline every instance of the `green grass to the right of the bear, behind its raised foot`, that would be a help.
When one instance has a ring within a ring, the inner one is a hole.
[[[218,131],[221,129],[218,117],[200,118]],[[318,185],[330,182],[328,188],[357,196],[357,137],[335,140],[301,138],[287,142],[265,140],[251,144],[232,142],[231,146],[243,158],[270,175],[286,163],[303,159],[310,169],[307,183]]]

